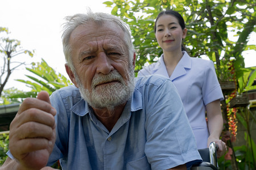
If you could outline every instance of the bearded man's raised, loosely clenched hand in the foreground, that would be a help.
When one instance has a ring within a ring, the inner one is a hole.
[[[9,135],[9,149],[19,163],[18,169],[46,166],[56,138],[55,114],[46,91],[40,92],[37,99],[25,99],[20,105]]]

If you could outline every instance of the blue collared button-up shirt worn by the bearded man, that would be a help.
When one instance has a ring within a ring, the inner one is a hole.
[[[168,169],[201,162],[172,82],[155,75],[135,82],[134,94],[110,132],[75,86],[53,92],[57,126],[49,165],[60,159],[63,169]]]

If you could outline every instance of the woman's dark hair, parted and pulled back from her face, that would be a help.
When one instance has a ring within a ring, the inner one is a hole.
[[[167,10],[167,11],[162,11],[158,14],[158,17],[156,17],[155,19],[155,25],[154,25],[154,31],[156,32],[156,22],[158,21],[158,19],[160,18],[160,16],[162,15],[172,15],[174,16],[175,18],[177,18],[179,24],[180,24],[180,27],[181,29],[184,29],[186,26],[185,26],[185,22],[184,22],[184,19],[183,17],[179,14],[179,12],[177,11],[174,11],[174,10]],[[181,50],[182,51],[186,51],[185,47],[183,45],[181,45]]]

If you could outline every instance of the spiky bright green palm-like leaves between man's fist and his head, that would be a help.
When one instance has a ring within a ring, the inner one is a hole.
[[[36,97],[40,91],[47,91],[49,95],[57,89],[69,86],[72,83],[64,75],[56,73],[44,59],[41,63],[34,63],[32,68],[26,67],[35,76],[26,75],[30,80],[16,79],[19,82],[26,83],[31,88],[30,92],[22,92],[11,95],[11,98]]]

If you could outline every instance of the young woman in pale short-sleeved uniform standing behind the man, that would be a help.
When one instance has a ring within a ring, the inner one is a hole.
[[[216,142],[219,147],[217,155],[220,157],[226,151],[225,143],[220,140],[223,128],[220,100],[224,97],[213,62],[189,57],[182,50],[181,44],[187,35],[187,28],[178,12],[160,12],[154,29],[163,54],[158,62],[140,70],[138,76],[160,74],[170,78],[183,101],[197,148],[207,148],[210,142]]]

